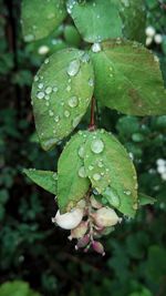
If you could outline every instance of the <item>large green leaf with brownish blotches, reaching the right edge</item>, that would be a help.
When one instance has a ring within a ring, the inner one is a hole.
[[[118,40],[100,45],[101,51],[91,54],[96,99],[131,115],[165,114],[166,90],[158,59],[137,42]]]

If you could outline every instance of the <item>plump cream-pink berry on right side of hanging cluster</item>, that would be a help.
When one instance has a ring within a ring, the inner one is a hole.
[[[116,215],[115,211],[110,207],[97,210],[96,213],[93,214],[93,217],[96,225],[100,227],[113,226],[122,221],[122,218]]]

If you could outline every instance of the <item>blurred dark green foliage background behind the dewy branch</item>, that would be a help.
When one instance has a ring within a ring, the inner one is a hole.
[[[146,0],[146,11],[147,27],[156,31],[147,45],[160,59],[166,84],[166,2]],[[30,92],[45,57],[71,45],[84,47],[70,18],[49,38],[25,44],[20,1],[0,0],[0,296],[165,296],[166,170],[160,163],[166,160],[166,115],[100,110],[98,126],[127,147],[141,191],[157,198],[103,238],[105,257],[75,252],[68,232],[51,223],[54,196],[22,175],[23,167],[56,170],[64,143],[49,153],[41,150]],[[86,115],[79,129],[87,121]]]

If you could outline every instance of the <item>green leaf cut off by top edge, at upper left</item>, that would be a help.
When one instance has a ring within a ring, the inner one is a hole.
[[[66,16],[63,0],[23,0],[22,30],[30,42],[49,35]]]

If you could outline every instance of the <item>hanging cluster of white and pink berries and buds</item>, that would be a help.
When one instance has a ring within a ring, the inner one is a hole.
[[[61,215],[58,211],[52,218],[60,227],[71,231],[69,239],[77,239],[75,249],[83,248],[87,252],[92,247],[103,256],[105,252],[98,238],[113,232],[113,226],[121,221],[113,208],[104,207],[94,195],[79,202],[71,212]]]

